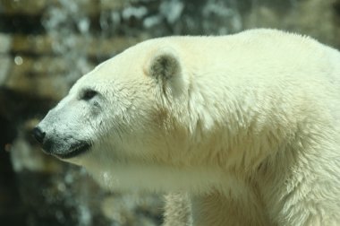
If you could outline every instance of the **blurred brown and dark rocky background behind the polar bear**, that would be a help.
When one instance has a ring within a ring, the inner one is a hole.
[[[30,129],[81,74],[141,40],[257,27],[340,48],[340,0],[0,0],[0,224],[160,225],[161,196],[102,190]]]

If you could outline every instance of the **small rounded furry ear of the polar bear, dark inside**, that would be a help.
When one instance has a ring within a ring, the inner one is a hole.
[[[172,48],[158,49],[147,67],[147,74],[161,83],[177,80],[182,74],[179,57]]]

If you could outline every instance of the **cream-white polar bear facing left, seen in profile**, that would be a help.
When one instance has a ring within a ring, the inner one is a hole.
[[[144,41],[82,76],[33,134],[103,186],[173,192],[166,225],[340,222],[340,53],[308,37]]]

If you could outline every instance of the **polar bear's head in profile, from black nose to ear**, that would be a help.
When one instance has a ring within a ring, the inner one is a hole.
[[[88,168],[188,164],[183,61],[169,46],[129,48],[82,76],[33,135],[45,152]]]

